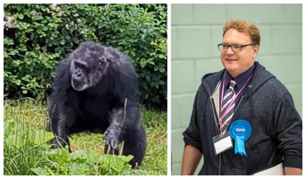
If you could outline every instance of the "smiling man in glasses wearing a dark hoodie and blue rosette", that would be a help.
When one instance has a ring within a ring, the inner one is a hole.
[[[286,175],[302,174],[302,121],[287,88],[254,62],[259,42],[254,24],[226,22],[218,45],[225,69],[202,78],[183,133],[182,175],[194,174],[202,155],[199,175],[250,175],[282,158]],[[238,120],[244,120],[244,129],[235,128]],[[242,134],[249,138],[239,140],[230,128],[246,130],[250,136]],[[233,144],[220,152],[215,138],[223,135],[231,136]]]

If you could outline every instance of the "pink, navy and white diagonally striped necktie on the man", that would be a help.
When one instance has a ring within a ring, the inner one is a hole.
[[[230,105],[230,103],[232,102],[232,100],[236,96],[236,93],[235,93],[235,90],[234,90],[235,86],[236,86],[236,82],[234,80],[231,80],[229,89],[226,91],[226,93],[223,97],[222,109],[221,109],[222,116],[224,115],[226,109],[228,108],[228,106]],[[232,103],[229,110],[226,112],[224,118],[222,119],[222,134],[225,133],[226,128],[228,127],[228,124],[230,123],[230,120],[232,119],[232,117],[234,115],[234,110],[235,110],[235,101]],[[224,124],[226,124],[226,125],[224,125]],[[220,128],[220,130],[221,130],[221,128]]]

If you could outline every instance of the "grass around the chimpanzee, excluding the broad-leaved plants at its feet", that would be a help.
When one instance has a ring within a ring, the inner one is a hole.
[[[49,170],[43,167],[46,161],[49,162],[49,165],[52,162],[50,159],[44,158],[46,152],[50,150],[48,146],[41,145],[45,143],[42,141],[53,138],[52,133],[50,136],[50,133],[46,133],[43,130],[47,104],[32,99],[22,99],[14,102],[7,100],[4,103],[4,122],[6,125],[4,127],[4,174],[33,175],[37,174],[37,172],[33,172],[33,168],[39,168],[41,172]],[[142,165],[128,174],[166,175],[167,113],[152,111],[142,107],[141,114],[147,133],[147,149]],[[12,138],[11,136],[14,137]],[[39,139],[37,136],[39,136]],[[102,134],[74,134],[70,137],[71,148],[73,151],[95,152],[99,156],[106,156],[103,152],[104,140],[102,136]],[[20,143],[18,144],[19,147],[12,145],[12,143],[16,144],[16,142]],[[60,160],[65,160],[64,154]],[[54,167],[52,163],[51,166]],[[60,170],[63,166],[56,167]],[[65,174],[65,172],[61,174]]]

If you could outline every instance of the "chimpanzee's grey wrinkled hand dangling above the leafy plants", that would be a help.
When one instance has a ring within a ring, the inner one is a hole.
[[[104,152],[107,153],[110,148],[110,153],[118,154],[119,151],[119,136],[121,133],[121,127],[119,126],[110,126],[106,129],[103,138],[105,139],[105,148]]]

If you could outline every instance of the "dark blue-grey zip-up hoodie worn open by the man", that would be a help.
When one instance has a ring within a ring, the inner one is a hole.
[[[215,155],[212,138],[219,134],[216,118],[220,117],[219,89],[224,70],[202,78],[190,124],[183,133],[187,145],[203,150],[199,175],[250,175],[283,157],[284,166],[302,168],[300,115],[287,88],[258,62],[230,122],[246,120],[251,124],[252,134],[244,142],[247,156],[234,154],[234,140],[233,148]]]

